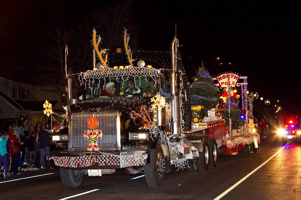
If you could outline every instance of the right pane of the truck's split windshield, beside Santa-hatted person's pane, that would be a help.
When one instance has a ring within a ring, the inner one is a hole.
[[[120,96],[154,96],[156,83],[151,76],[131,77],[123,76],[120,79]]]

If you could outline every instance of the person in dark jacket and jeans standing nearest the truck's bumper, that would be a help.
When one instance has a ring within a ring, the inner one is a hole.
[[[50,165],[50,136],[49,132],[45,130],[45,125],[40,124],[39,125],[40,130],[36,136],[36,141],[40,145],[40,165],[41,169],[45,169],[45,156],[48,160],[48,163]]]

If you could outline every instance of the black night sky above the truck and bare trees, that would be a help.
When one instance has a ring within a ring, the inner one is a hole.
[[[45,41],[45,23],[53,19],[57,8],[67,23],[80,23],[86,11],[103,3],[2,0],[0,12],[6,18],[6,35],[0,35],[0,59],[13,56],[12,65],[34,68],[31,58]],[[213,76],[225,71],[247,76],[250,91],[270,99],[271,105],[280,100],[278,105],[287,112],[300,112],[297,88],[301,18],[297,5],[279,1],[136,0],[133,15],[139,24],[137,40],[141,49],[169,50],[176,23],[188,76],[195,74],[203,60]]]

